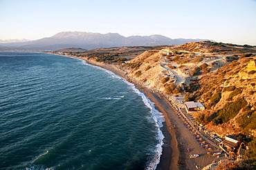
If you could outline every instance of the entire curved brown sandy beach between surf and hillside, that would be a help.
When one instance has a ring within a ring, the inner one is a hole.
[[[71,56],[73,57],[73,56]],[[155,103],[156,109],[161,111],[165,116],[165,123],[161,131],[165,138],[163,139],[163,152],[161,160],[156,169],[202,169],[208,164],[212,163],[212,160],[221,160],[223,158],[212,157],[208,154],[207,149],[203,149],[199,142],[195,140],[195,136],[187,127],[185,127],[184,120],[180,117],[180,114],[173,107],[172,103],[163,96],[152,92],[151,90],[143,87],[140,83],[133,81],[132,78],[126,76],[125,70],[120,70],[115,65],[109,65],[104,63],[98,63],[95,61],[89,61],[82,57],[75,57],[82,59],[90,65],[96,65],[106,70],[113,72],[114,74],[125,78],[130,83],[134,83],[138,89],[140,89],[146,96],[149,97],[152,102]],[[190,148],[191,152],[187,152],[186,149]],[[199,154],[199,158],[189,158],[190,154]]]

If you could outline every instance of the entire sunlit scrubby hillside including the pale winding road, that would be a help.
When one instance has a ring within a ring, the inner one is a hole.
[[[210,41],[175,45],[140,54],[127,64],[128,76],[165,94],[185,90],[206,105],[201,123],[220,134],[255,136],[255,52]]]

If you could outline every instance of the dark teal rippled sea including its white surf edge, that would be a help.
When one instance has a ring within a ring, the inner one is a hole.
[[[0,53],[0,169],[156,169],[163,121],[108,70],[55,54]]]

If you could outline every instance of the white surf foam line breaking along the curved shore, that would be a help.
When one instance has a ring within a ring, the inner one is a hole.
[[[82,59],[80,59],[82,60]],[[86,61],[82,60],[82,63],[84,65],[90,65],[88,63],[86,63]],[[136,94],[138,94],[142,99],[143,99],[143,103],[145,104],[146,107],[148,107],[150,109],[150,112],[152,114],[152,118],[154,120],[154,123],[157,127],[157,140],[158,140],[158,145],[156,145],[156,149],[154,151],[154,156],[152,160],[149,160],[149,162],[147,162],[146,164],[146,168],[147,170],[154,170],[157,167],[157,164],[160,162],[160,158],[163,152],[163,138],[165,138],[163,136],[163,133],[161,131],[161,127],[163,127],[163,122],[165,122],[165,118],[163,116],[163,114],[158,111],[155,107],[155,104],[149,100],[149,98],[147,96],[145,96],[145,94],[143,92],[140,92],[139,89],[136,88],[136,86],[133,83],[129,83],[125,78],[122,78],[121,76],[118,76],[116,74],[114,74],[113,72],[106,70],[100,66],[97,65],[90,65],[91,67],[96,67],[100,70],[104,70],[104,72],[107,72],[109,74],[111,74],[111,76],[113,78],[118,78],[122,81],[124,81],[125,83],[127,83],[127,85],[129,85],[131,87],[131,89],[133,89],[134,92],[136,92]],[[118,98],[119,99],[119,98]]]

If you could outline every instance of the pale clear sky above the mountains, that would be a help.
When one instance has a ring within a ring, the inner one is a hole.
[[[62,31],[256,45],[256,0],[0,0],[0,39]]]

